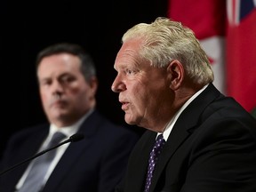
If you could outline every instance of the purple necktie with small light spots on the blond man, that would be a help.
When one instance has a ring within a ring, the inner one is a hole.
[[[164,147],[164,143],[165,143],[165,140],[164,140],[163,134],[159,134],[156,139],[156,143],[155,143],[155,145],[150,153],[150,156],[149,156],[148,174],[147,174],[147,180],[146,180],[144,192],[148,192],[148,190],[149,190],[151,180],[153,177],[153,173],[154,173],[154,169],[156,167],[156,162],[158,160],[158,156],[161,152],[161,149]]]

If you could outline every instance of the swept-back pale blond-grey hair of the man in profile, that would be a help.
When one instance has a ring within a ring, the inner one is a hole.
[[[155,68],[164,68],[179,60],[185,73],[196,84],[208,84],[214,76],[210,61],[194,32],[180,22],[158,17],[151,24],[140,23],[124,33],[122,43],[140,38],[141,59],[149,60]]]

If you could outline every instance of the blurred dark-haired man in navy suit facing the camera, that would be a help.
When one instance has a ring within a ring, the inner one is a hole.
[[[35,183],[29,181],[37,176],[28,181],[26,178],[36,159],[43,156],[5,172],[0,176],[0,191],[28,192],[37,183],[40,185],[33,192],[114,191],[139,136],[111,123],[97,111],[98,82],[91,57],[77,44],[54,44],[39,52],[36,64],[40,96],[50,124],[13,135],[4,152],[2,170],[42,151],[54,132],[61,132],[62,140],[76,132],[83,133],[84,140],[56,148],[47,172]]]

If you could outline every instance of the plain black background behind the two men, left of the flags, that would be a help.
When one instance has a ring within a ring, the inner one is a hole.
[[[46,121],[36,84],[37,52],[50,44],[84,46],[96,63],[100,112],[124,124],[124,112],[110,87],[124,32],[139,22],[167,15],[167,0],[31,1],[2,0],[0,155],[13,132]],[[131,126],[135,132],[142,128]]]

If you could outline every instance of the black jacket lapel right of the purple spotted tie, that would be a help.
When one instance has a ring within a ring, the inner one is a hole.
[[[209,84],[204,92],[198,95],[198,97],[193,100],[180,114],[180,117],[174,124],[172,132],[170,133],[169,138],[164,145],[163,151],[159,156],[150,191],[155,190],[157,180],[159,180],[162,172],[164,172],[164,167],[166,164],[168,164],[175,151],[180,147],[184,140],[187,140],[189,135],[196,130],[196,124],[198,124],[200,119],[199,117],[204,111],[204,108],[206,108],[212,102],[212,100],[215,100],[217,97],[221,96],[222,95],[213,86],[213,84]],[[184,121],[184,119],[186,119],[186,121]]]

